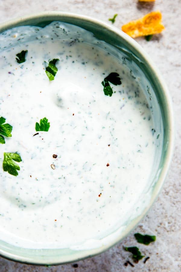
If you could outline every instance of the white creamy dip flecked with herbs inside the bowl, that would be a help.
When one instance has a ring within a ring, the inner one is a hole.
[[[71,39],[75,30],[94,45]],[[0,116],[13,127],[0,144],[0,239],[24,248],[81,248],[124,226],[148,186],[155,133],[146,91],[81,28],[18,27],[0,34],[1,45],[9,38],[0,53]],[[19,64],[22,50],[28,52]],[[49,81],[45,69],[54,58],[58,71]],[[101,82],[112,72],[122,84],[110,83],[109,97]],[[33,136],[44,117],[49,131]],[[3,171],[4,152],[20,154],[18,176]]]

